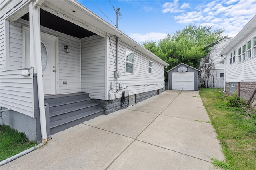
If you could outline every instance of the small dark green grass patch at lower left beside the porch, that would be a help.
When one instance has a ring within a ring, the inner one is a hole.
[[[36,142],[28,141],[24,133],[19,133],[4,125],[0,132],[0,161],[10,158],[30,147],[36,145]]]

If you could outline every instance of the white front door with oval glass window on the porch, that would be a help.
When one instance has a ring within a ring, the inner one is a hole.
[[[41,61],[44,94],[56,94],[55,39],[41,34]]]

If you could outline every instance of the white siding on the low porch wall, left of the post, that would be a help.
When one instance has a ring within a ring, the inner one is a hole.
[[[21,76],[22,70],[0,74],[0,106],[34,117],[33,70],[30,76]]]

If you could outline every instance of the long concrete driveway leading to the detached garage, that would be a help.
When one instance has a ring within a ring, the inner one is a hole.
[[[212,169],[224,160],[196,91],[168,90],[52,135],[0,169]]]

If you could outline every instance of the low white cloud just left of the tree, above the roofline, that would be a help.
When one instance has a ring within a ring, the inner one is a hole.
[[[156,33],[156,32],[148,32],[146,34],[141,33],[131,33],[128,36],[137,41],[138,43],[142,43],[142,41],[152,40],[158,42],[160,39],[164,39],[167,33]]]

